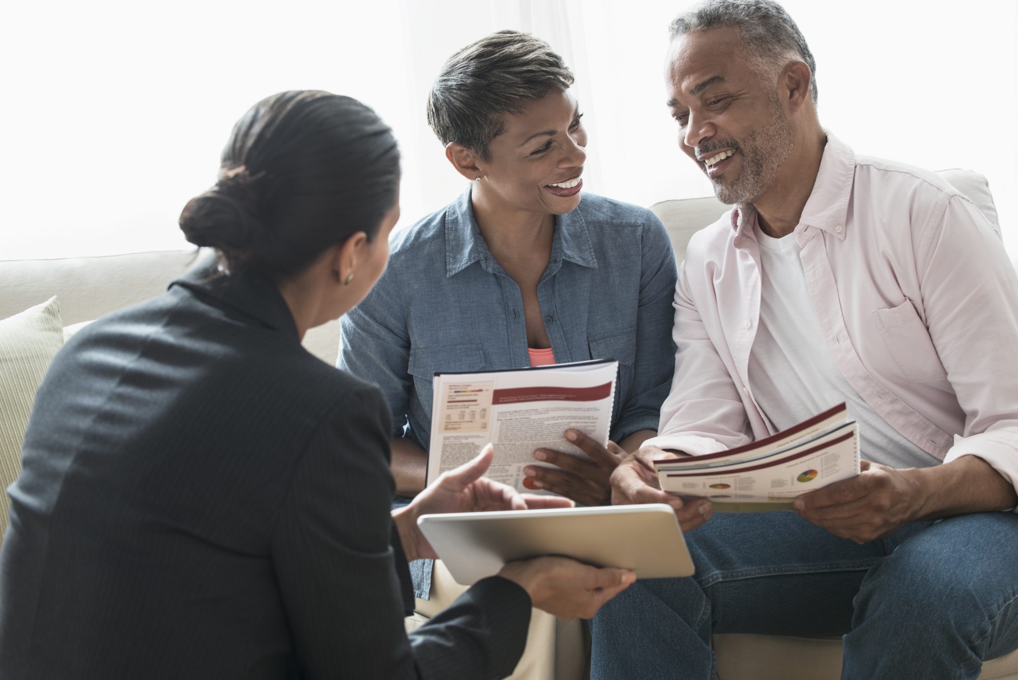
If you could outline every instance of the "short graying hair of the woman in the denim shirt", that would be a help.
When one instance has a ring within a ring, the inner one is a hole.
[[[525,111],[524,100],[565,92],[573,74],[540,38],[500,31],[452,55],[428,96],[428,124],[443,145],[466,147],[488,159],[505,131],[502,114]]]

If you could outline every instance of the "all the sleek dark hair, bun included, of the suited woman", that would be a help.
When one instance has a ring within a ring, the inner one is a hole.
[[[234,124],[216,186],[180,214],[223,271],[275,279],[357,232],[372,240],[399,196],[399,147],[360,102],[318,90],[267,97]]]

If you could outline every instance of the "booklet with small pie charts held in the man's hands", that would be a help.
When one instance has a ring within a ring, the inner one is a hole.
[[[859,426],[840,404],[751,444],[655,468],[663,490],[708,498],[717,511],[788,510],[801,494],[859,473]]]

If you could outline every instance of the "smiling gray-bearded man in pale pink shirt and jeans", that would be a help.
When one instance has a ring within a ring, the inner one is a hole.
[[[696,574],[602,610],[593,680],[713,678],[725,632],[844,636],[843,680],[975,678],[1018,647],[1018,516],[1002,512],[1018,504],[1018,280],[967,196],[821,126],[814,73],[777,3],[713,0],[672,24],[679,146],[736,205],[689,242],[659,435],[612,487],[675,508]],[[867,460],[795,512],[713,517],[658,486],[656,459],[841,402]]]

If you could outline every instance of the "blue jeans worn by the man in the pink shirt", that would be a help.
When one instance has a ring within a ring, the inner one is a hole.
[[[857,545],[793,512],[717,514],[690,578],[640,580],[590,623],[591,680],[715,678],[713,633],[844,640],[843,680],[975,678],[1018,647],[1018,515]]]

